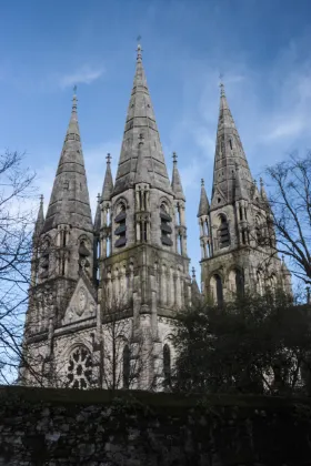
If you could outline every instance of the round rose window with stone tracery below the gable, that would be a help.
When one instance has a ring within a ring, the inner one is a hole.
[[[92,378],[92,358],[89,351],[79,347],[69,357],[68,385],[71,388],[88,388]]]

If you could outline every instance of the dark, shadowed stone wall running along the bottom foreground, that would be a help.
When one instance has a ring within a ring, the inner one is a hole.
[[[0,397],[0,465],[311,465],[305,398],[24,387]]]

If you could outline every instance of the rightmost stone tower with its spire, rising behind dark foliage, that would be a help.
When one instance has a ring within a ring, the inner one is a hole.
[[[258,190],[221,84],[213,186],[209,203],[202,180],[198,212],[202,292],[221,303],[244,290],[280,286],[291,292],[285,264],[272,254],[270,207]]]

